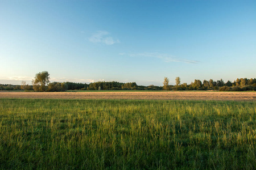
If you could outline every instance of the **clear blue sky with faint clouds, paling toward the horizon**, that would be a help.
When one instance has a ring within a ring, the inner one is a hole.
[[[0,0],[0,83],[256,77],[256,1]]]

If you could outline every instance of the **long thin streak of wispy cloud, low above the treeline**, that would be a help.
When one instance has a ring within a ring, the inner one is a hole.
[[[119,55],[125,55],[125,53],[119,53]],[[133,54],[127,54],[130,57],[152,57],[152,58],[159,58],[162,59],[164,62],[185,62],[185,63],[198,63],[199,61],[196,60],[190,60],[190,59],[184,59],[172,56],[170,54],[164,54],[164,53],[133,53]]]

